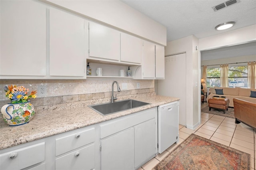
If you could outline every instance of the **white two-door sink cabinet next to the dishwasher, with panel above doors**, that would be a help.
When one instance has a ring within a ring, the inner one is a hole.
[[[100,125],[101,169],[132,170],[154,157],[156,120],[155,107]]]

